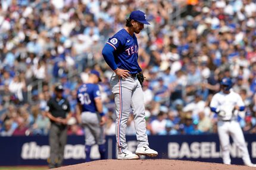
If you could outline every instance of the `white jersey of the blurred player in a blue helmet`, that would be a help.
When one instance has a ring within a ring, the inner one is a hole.
[[[223,92],[218,92],[215,94],[211,100],[210,107],[214,107],[218,111],[225,111],[226,115],[221,117],[221,120],[231,120],[235,119],[236,117],[233,114],[235,105],[238,105],[239,107],[245,106],[241,96],[236,92],[230,91],[229,94],[224,94]]]

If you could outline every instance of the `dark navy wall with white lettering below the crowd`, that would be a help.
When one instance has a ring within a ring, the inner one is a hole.
[[[221,163],[217,134],[148,136],[149,146],[157,150],[160,159],[180,159]],[[107,159],[115,159],[117,148],[114,136],[107,136]],[[127,136],[129,150],[135,152],[136,136]],[[256,163],[256,134],[245,134],[252,162]],[[68,136],[65,146],[64,164],[85,162],[83,136]],[[241,152],[230,145],[232,163],[241,165]],[[49,157],[48,136],[0,137],[0,166],[6,165],[47,165]],[[92,147],[92,159],[99,159],[98,147]],[[142,158],[143,159],[143,158]]]

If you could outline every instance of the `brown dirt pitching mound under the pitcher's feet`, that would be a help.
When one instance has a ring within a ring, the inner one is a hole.
[[[208,162],[193,162],[193,161],[177,161],[168,159],[143,159],[143,160],[116,160],[107,159],[101,161],[93,161],[88,163],[80,163],[77,165],[63,166],[54,168],[54,170],[107,170],[107,169],[122,169],[122,170],[255,170],[249,166],[242,165],[224,165],[221,163]]]

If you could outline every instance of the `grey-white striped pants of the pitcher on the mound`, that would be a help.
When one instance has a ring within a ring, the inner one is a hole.
[[[143,103],[143,91],[137,78],[123,79],[115,73],[110,81],[115,100],[115,136],[117,139],[118,153],[127,150],[126,126],[131,108],[134,115],[136,137],[138,147],[148,146],[148,136],[146,135],[145,107]]]

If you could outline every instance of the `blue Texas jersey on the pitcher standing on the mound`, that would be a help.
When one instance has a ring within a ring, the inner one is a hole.
[[[123,28],[108,39],[107,44],[114,47],[114,60],[118,68],[129,70],[130,73],[139,73],[142,69],[138,64],[138,41]]]

